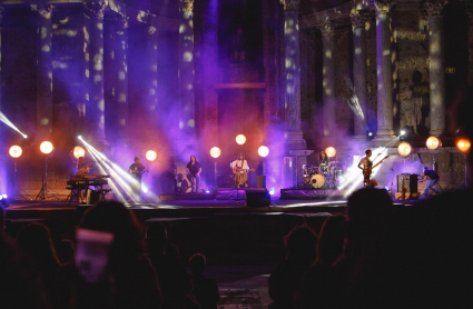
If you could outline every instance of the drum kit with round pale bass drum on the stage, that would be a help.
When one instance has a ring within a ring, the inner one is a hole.
[[[331,162],[328,172],[321,172],[318,167],[303,167],[303,189],[336,189],[343,179],[344,170],[338,161]]]

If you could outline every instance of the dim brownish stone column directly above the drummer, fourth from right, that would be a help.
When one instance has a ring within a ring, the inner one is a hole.
[[[334,37],[335,29],[331,21],[319,27],[322,32],[322,78],[323,78],[323,119],[324,138],[332,137],[336,129],[336,99],[335,99],[335,63],[334,63]]]

